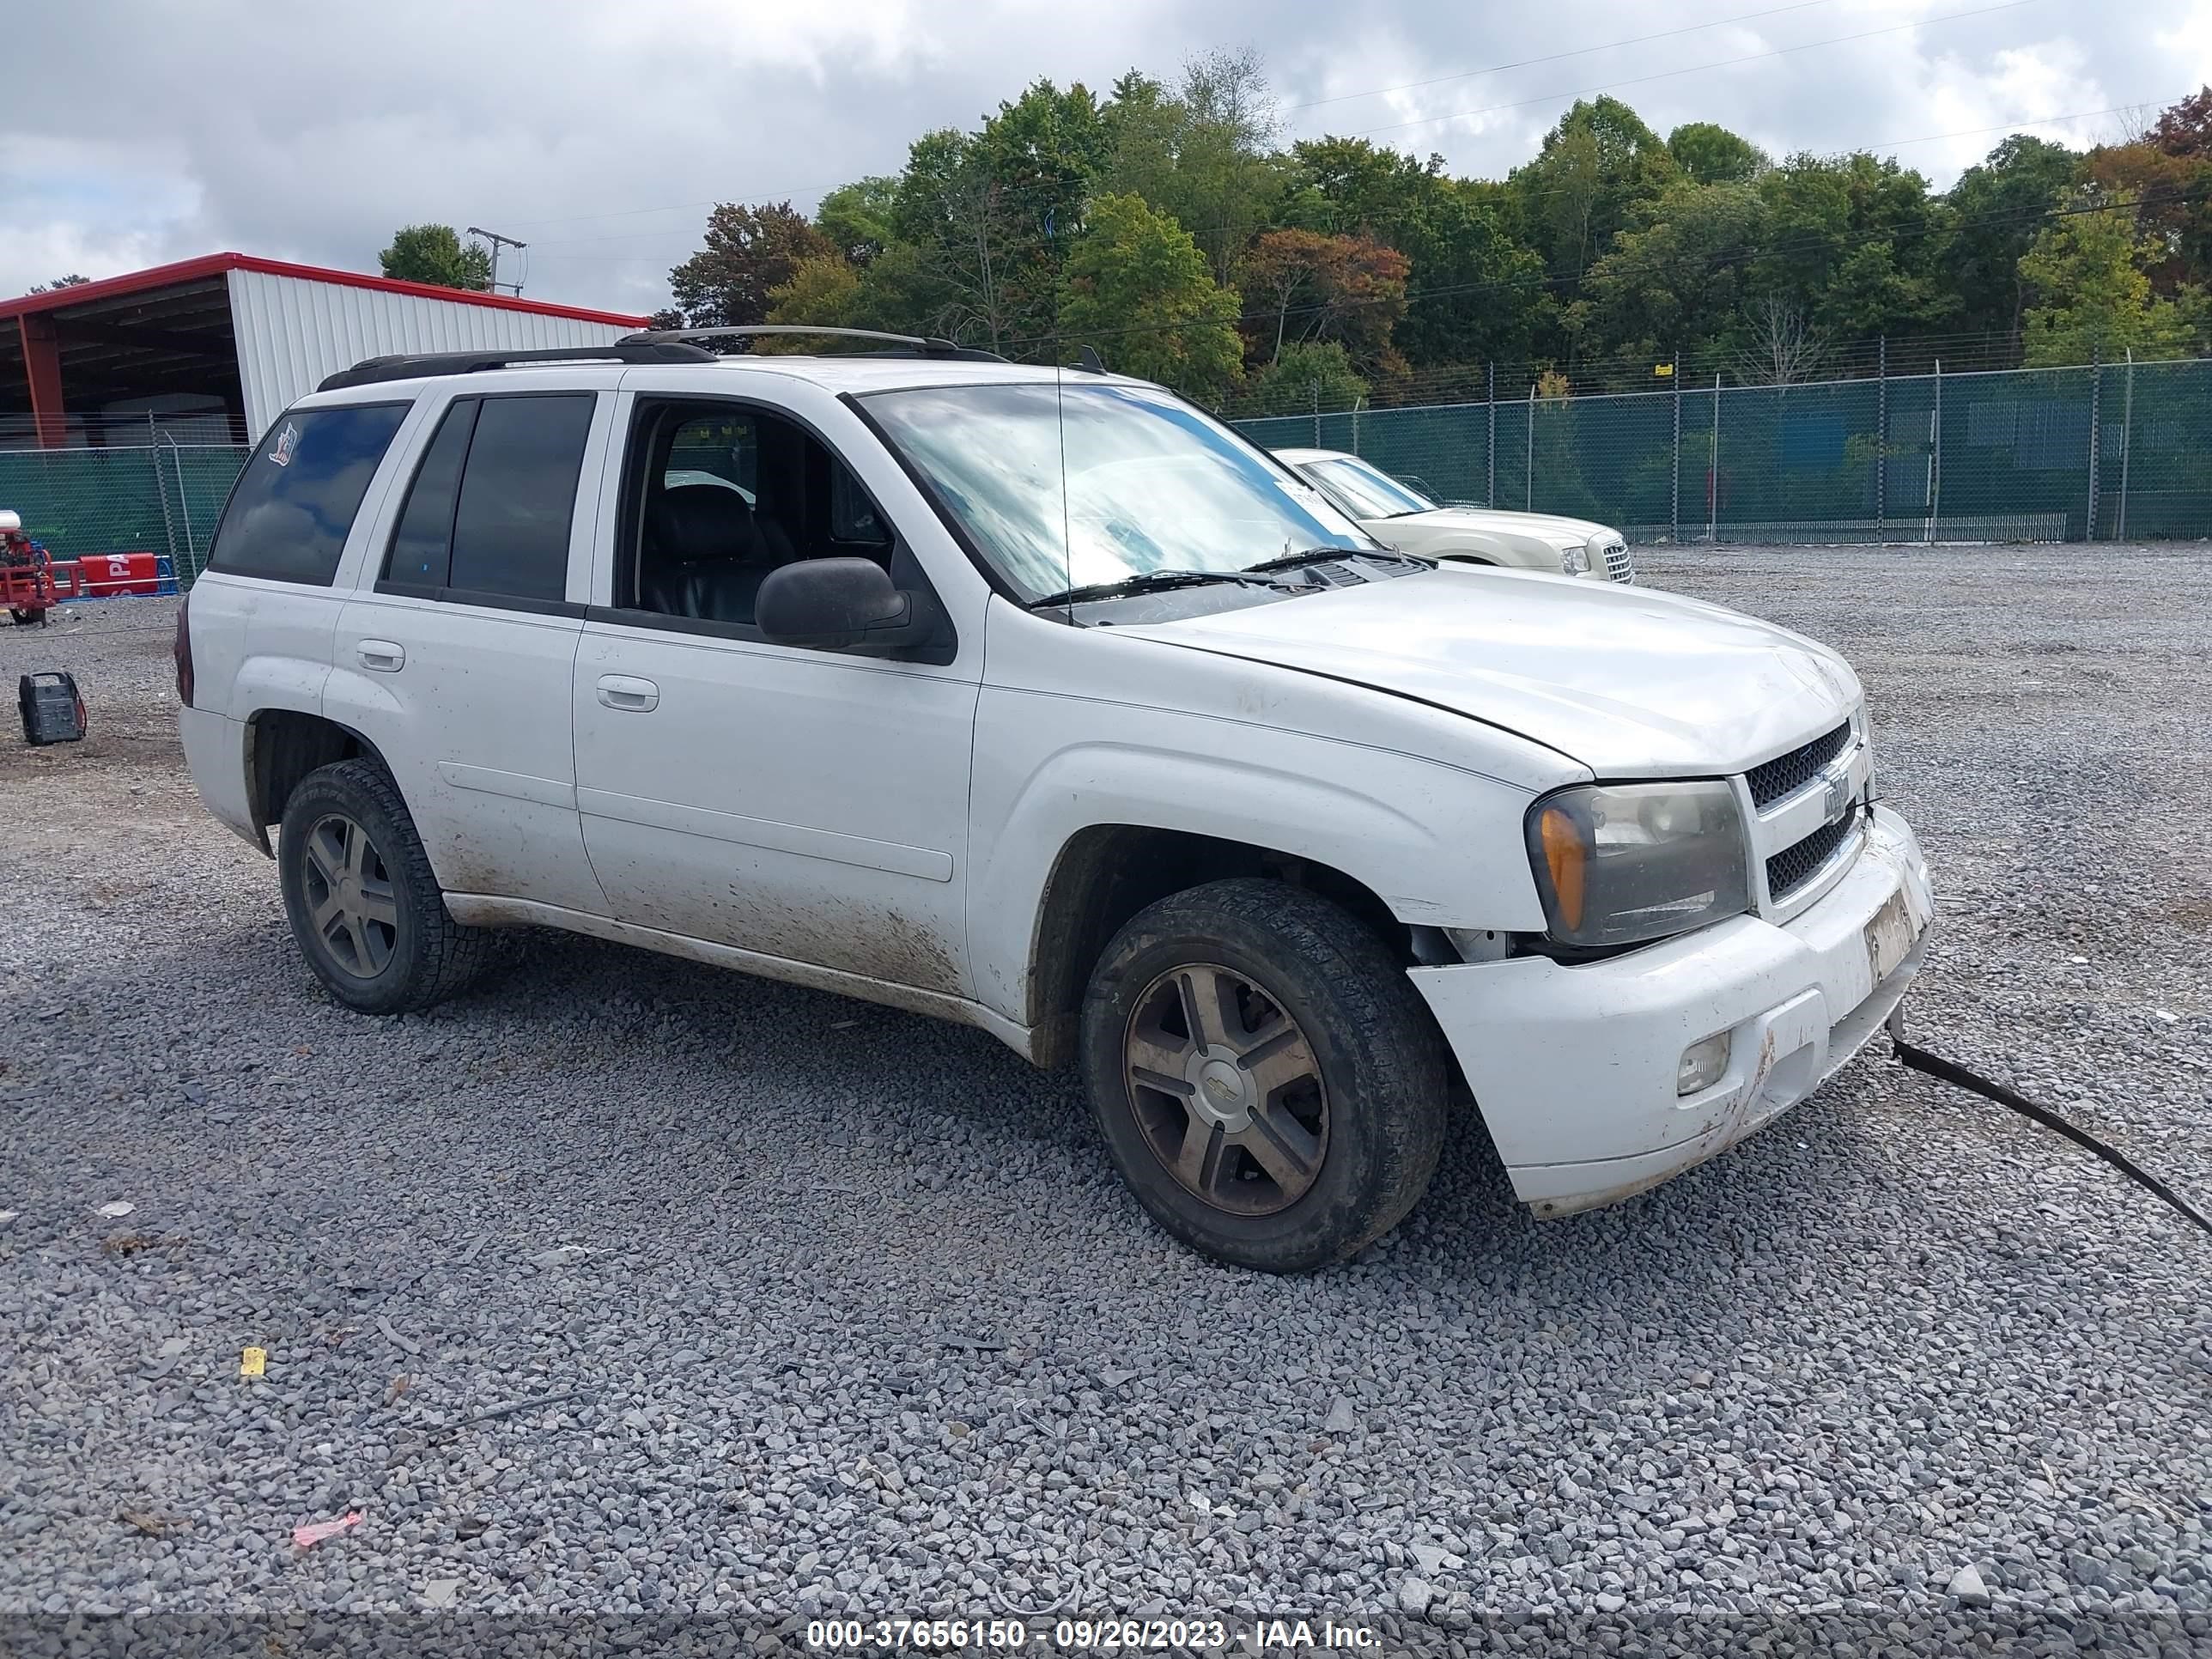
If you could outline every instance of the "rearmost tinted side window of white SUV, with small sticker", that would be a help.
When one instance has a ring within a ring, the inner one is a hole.
[[[405,414],[363,403],[281,416],[230,491],[208,568],[327,584]]]

